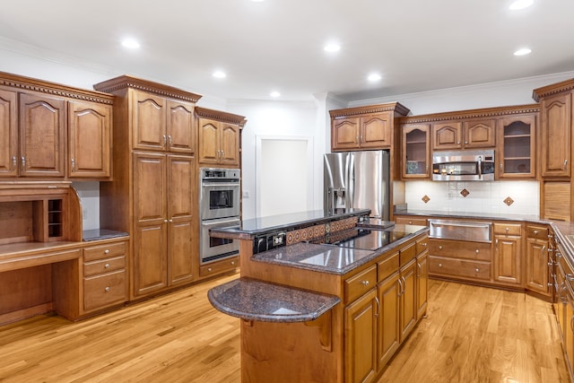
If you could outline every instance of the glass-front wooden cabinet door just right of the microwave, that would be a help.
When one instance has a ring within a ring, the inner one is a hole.
[[[535,116],[500,120],[499,178],[535,177]]]

